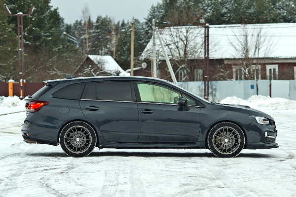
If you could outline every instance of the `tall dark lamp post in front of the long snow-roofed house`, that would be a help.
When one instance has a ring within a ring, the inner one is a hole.
[[[199,24],[201,26],[205,27],[205,43],[204,43],[204,48],[205,48],[205,59],[204,59],[204,97],[205,99],[209,100],[209,29],[210,26],[206,24],[205,19],[201,18],[199,19]]]

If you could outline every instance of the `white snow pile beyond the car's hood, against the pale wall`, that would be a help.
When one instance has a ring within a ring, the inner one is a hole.
[[[254,109],[258,110],[296,110],[296,100],[289,100],[283,98],[270,98],[261,96],[261,95],[253,95],[247,100],[233,97],[227,97],[222,99],[220,103],[224,104],[241,104],[248,105]]]

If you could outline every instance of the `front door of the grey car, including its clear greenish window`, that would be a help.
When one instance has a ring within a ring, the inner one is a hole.
[[[138,142],[196,142],[201,111],[196,101],[160,84],[137,82],[139,110]],[[184,111],[178,104],[185,97],[190,105]]]

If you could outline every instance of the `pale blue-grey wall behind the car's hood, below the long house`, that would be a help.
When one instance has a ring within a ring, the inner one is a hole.
[[[257,95],[256,83],[256,80],[210,81],[210,100],[219,102],[232,96],[249,99]],[[178,82],[178,85],[204,97],[204,83],[201,81]],[[269,96],[269,85],[269,80],[258,80],[258,95]],[[296,80],[271,80],[271,97],[296,100]]]

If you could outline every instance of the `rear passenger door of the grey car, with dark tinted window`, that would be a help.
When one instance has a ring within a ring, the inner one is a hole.
[[[110,142],[137,142],[139,115],[130,81],[86,84],[80,100],[84,116],[96,124]]]

